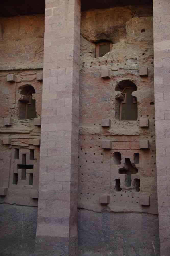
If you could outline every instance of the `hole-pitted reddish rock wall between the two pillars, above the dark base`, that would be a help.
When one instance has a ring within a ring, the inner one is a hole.
[[[103,57],[95,58],[95,43],[101,40],[112,41],[113,47]],[[148,67],[148,76],[139,75],[140,67]],[[102,69],[111,71],[111,79],[101,78]],[[117,99],[115,96],[121,94],[124,88],[119,86],[122,81],[130,81],[137,87],[132,93],[135,102],[137,101],[136,121],[119,120],[120,106],[124,97]],[[110,128],[101,127],[104,118],[111,119]],[[148,128],[139,126],[140,118],[149,119]],[[153,17],[150,6],[120,6],[82,12],[79,208],[98,213],[132,211],[157,214],[154,118]],[[142,150],[139,148],[139,142],[145,139],[149,140],[150,149]],[[102,149],[102,141],[105,140],[112,142],[112,149]],[[117,152],[120,154],[120,163],[114,160]],[[137,171],[130,172],[129,168],[126,168],[127,161]],[[143,193],[150,196],[149,207],[140,205],[139,199]],[[109,204],[104,206],[99,203],[101,194],[110,195]],[[84,222],[88,216],[86,210],[83,213]],[[108,220],[105,221],[108,224]],[[93,222],[95,223],[96,219],[93,219]],[[80,233],[82,225],[80,222]],[[105,232],[107,236],[107,228]],[[150,232],[152,231],[148,231],[148,238]],[[114,251],[116,255],[124,255],[123,251],[113,250],[111,244],[109,245],[111,249],[108,246],[108,250],[104,252],[100,251],[97,245],[95,248],[92,246],[88,251],[87,244],[83,240],[80,243],[82,250],[80,255],[103,256],[110,251]],[[122,244],[117,245],[119,246],[122,248]],[[138,247],[137,243],[135,246]],[[149,251],[154,255],[152,248],[149,248]],[[135,253],[132,249],[126,252],[126,255],[135,255]],[[147,254],[144,248],[138,253]]]

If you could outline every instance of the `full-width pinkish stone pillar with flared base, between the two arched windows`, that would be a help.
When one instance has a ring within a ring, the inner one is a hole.
[[[34,255],[77,255],[80,0],[46,0]]]

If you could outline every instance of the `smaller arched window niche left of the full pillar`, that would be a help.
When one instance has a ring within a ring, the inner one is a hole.
[[[19,119],[30,119],[37,117],[35,109],[35,100],[32,94],[35,89],[32,85],[24,85],[19,88]]]

